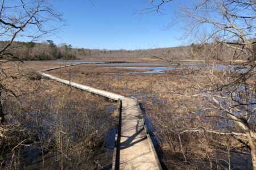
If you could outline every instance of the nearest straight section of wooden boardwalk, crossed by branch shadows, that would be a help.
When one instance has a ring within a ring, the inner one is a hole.
[[[122,100],[122,124],[120,140],[120,169],[160,169],[137,100],[125,97]]]

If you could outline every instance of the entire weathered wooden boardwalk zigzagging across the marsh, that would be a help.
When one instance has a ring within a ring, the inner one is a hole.
[[[77,64],[76,64],[77,65]],[[61,67],[69,67],[61,66]],[[97,94],[119,103],[118,128],[115,135],[115,148],[113,154],[113,169],[162,169],[155,148],[152,145],[150,135],[144,124],[141,108],[136,99],[114,94],[112,92],[98,90],[89,86],[70,82],[52,76],[43,71],[60,69],[55,67],[38,71],[39,74],[49,79],[56,80],[81,90]]]

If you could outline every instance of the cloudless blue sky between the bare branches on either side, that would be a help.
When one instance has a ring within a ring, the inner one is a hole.
[[[49,37],[59,44],[90,49],[148,49],[182,45],[181,33],[166,29],[170,13],[135,14],[147,0],[57,0],[56,10],[63,14],[65,27]]]

